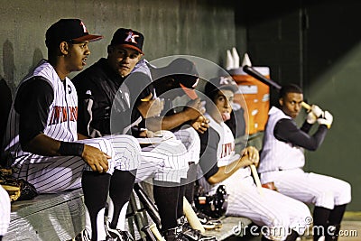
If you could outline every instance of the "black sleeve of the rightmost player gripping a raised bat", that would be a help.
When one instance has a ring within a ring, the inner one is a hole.
[[[327,131],[325,125],[319,125],[316,133],[310,135],[299,129],[293,120],[281,119],[274,126],[273,134],[279,141],[301,146],[309,151],[315,151],[323,143]]]

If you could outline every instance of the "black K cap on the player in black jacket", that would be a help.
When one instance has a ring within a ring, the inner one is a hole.
[[[114,33],[110,45],[122,45],[126,48],[131,48],[144,54],[142,51],[143,42],[144,36],[142,32],[137,32],[132,29],[120,28]]]

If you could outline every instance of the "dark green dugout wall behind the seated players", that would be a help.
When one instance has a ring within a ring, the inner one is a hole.
[[[315,3],[314,3],[315,2]],[[297,83],[310,104],[329,109],[334,125],[317,152],[307,153],[307,171],[349,181],[360,211],[361,175],[361,2],[216,0],[0,0],[0,118],[9,93],[42,58],[46,29],[60,18],[80,18],[90,33],[88,65],[106,56],[119,27],[145,35],[147,60],[194,55],[225,66],[226,51],[247,52],[254,66],[268,66],[271,78]],[[70,76],[71,77],[71,76]],[[274,103],[275,91],[271,91]],[[1,132],[0,132],[1,134]]]

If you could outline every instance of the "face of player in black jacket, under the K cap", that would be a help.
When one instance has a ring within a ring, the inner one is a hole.
[[[142,54],[122,45],[108,46],[107,60],[113,70],[121,77],[126,77],[132,72],[135,64],[142,58]]]

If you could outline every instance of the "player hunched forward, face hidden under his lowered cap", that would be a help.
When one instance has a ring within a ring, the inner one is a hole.
[[[153,131],[170,130],[187,148],[190,155],[190,170],[187,180],[184,181],[187,186],[181,186],[181,193],[185,194],[185,197],[191,202],[200,152],[197,132],[204,133],[208,128],[208,120],[201,115],[204,113],[204,107],[194,90],[199,82],[196,66],[192,61],[184,58],[172,60],[170,64],[162,68],[155,68],[146,60],[141,60],[133,72],[137,71],[149,73],[149,77],[153,79],[155,95],[164,99],[161,115],[147,118],[146,123],[144,121],[140,125]],[[185,107],[174,106],[173,100],[184,95],[190,98]]]

